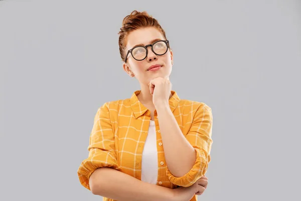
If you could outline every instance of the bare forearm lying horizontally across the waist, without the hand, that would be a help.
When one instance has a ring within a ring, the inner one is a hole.
[[[173,201],[174,189],[147,183],[118,170],[102,167],[89,179],[93,194],[118,201]]]

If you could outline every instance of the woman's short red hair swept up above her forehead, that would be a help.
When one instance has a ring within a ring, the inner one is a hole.
[[[119,52],[122,61],[125,61],[125,48],[126,48],[126,39],[130,32],[137,30],[139,28],[146,28],[146,27],[155,27],[160,31],[165,38],[166,33],[159,24],[159,22],[153,18],[152,16],[148,15],[145,11],[138,12],[133,11],[130,15],[126,16],[122,21],[122,27],[120,28],[119,34]]]

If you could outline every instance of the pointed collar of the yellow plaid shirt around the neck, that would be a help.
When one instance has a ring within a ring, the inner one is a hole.
[[[136,90],[132,93],[130,97],[130,107],[134,113],[135,118],[140,117],[145,112],[147,112],[147,115],[150,115],[150,111],[145,108],[139,101],[137,95],[141,92],[141,90]],[[177,106],[180,103],[180,97],[178,96],[177,92],[174,90],[171,90],[172,96],[169,99],[169,106],[172,112],[177,108]],[[155,111],[155,114],[157,111]]]

